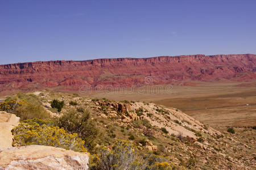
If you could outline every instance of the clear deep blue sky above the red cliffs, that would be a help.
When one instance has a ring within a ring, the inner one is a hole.
[[[256,54],[256,1],[0,0],[0,64]]]

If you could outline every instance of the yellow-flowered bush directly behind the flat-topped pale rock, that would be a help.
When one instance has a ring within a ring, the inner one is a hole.
[[[63,128],[52,126],[51,122],[39,119],[20,122],[12,130],[13,146],[44,145],[64,148],[77,152],[86,152],[84,141],[77,134],[69,134]]]

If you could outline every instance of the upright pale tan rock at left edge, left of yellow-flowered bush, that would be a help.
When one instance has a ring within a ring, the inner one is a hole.
[[[13,134],[11,129],[19,124],[19,117],[15,114],[0,112],[0,150],[12,147]]]

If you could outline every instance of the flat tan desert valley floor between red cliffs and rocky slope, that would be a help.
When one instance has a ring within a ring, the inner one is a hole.
[[[256,82],[197,82],[195,86],[173,86],[168,94],[157,92],[138,94],[92,93],[92,97],[112,100],[153,101],[184,113],[212,126],[255,126]],[[222,129],[221,128],[221,129]]]

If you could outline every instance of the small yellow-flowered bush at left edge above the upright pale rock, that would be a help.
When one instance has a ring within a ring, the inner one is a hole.
[[[16,108],[18,108],[21,105],[27,104],[25,100],[19,100],[18,98],[15,99],[6,99],[0,104],[0,111],[5,112],[13,112]]]

